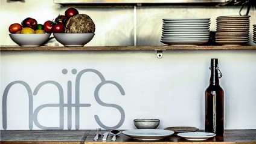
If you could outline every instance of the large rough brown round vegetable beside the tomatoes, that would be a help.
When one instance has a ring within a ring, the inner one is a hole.
[[[95,24],[86,14],[77,14],[68,19],[65,33],[94,33]]]

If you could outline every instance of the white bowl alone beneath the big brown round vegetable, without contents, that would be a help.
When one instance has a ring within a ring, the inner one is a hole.
[[[84,46],[89,43],[94,37],[94,33],[83,33],[83,34],[53,34],[54,38],[64,46]]]

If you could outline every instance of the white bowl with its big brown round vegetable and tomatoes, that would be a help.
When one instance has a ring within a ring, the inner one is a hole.
[[[55,21],[61,23],[57,24],[60,31],[53,29],[53,35],[63,46],[85,46],[95,35],[95,24],[91,17],[79,14],[75,8],[68,8],[65,16],[60,15],[59,20],[56,18]]]

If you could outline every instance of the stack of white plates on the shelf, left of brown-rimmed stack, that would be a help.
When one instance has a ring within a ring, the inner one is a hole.
[[[168,45],[199,45],[210,37],[210,18],[163,19],[161,43]]]

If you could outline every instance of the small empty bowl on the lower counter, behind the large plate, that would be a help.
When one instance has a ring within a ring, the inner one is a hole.
[[[138,129],[155,129],[160,124],[159,119],[134,119],[133,122]]]

